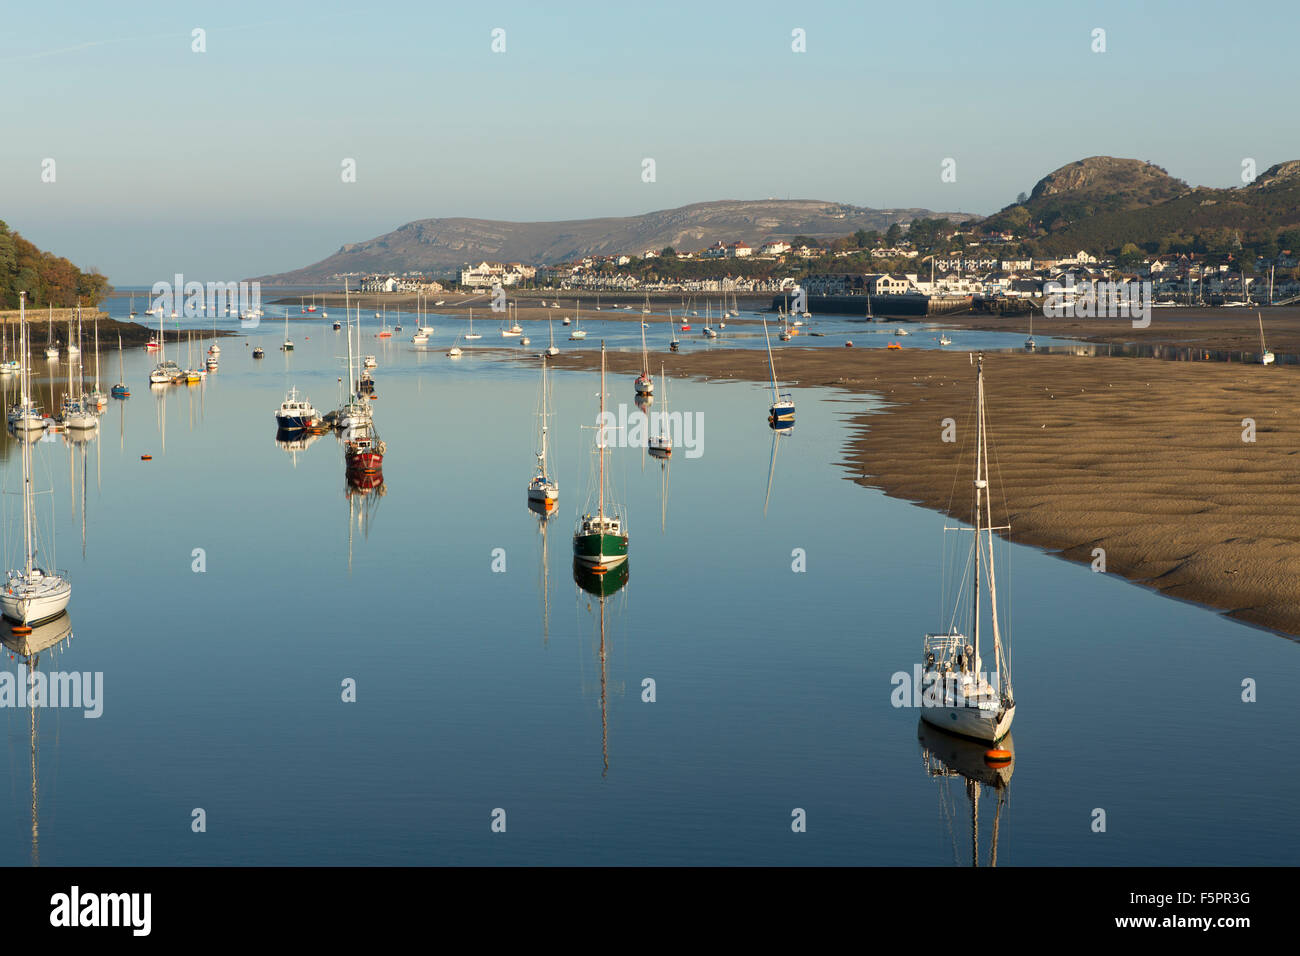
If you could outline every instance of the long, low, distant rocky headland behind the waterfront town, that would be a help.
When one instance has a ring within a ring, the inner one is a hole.
[[[870,209],[820,200],[719,200],[641,216],[560,222],[503,222],[482,219],[422,219],[365,242],[350,243],[313,265],[257,277],[265,285],[300,285],[348,272],[422,271],[446,274],[464,263],[559,263],[584,255],[672,246],[697,250],[744,239],[755,248],[767,238],[836,238],[858,229],[888,229],[931,216],[927,209]],[[941,213],[954,221],[965,213]]]

